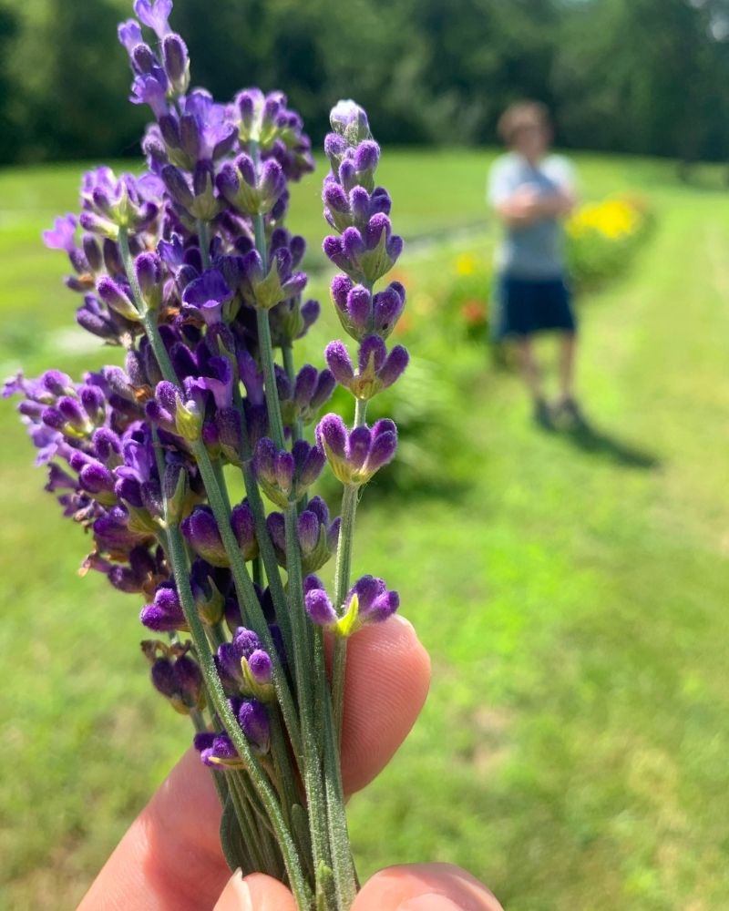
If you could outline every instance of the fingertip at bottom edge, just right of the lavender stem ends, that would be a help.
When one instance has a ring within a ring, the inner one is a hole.
[[[364,884],[352,911],[503,911],[487,887],[450,864],[391,866]]]

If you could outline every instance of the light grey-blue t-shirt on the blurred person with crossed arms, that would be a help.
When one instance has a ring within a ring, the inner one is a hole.
[[[518,189],[532,187],[540,195],[574,189],[568,159],[549,155],[538,166],[509,152],[497,159],[488,174],[488,202],[498,206]],[[539,220],[523,228],[508,228],[498,245],[498,271],[521,279],[554,279],[564,273],[564,231],[559,219]]]

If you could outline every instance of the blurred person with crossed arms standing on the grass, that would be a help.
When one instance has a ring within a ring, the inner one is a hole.
[[[514,343],[533,400],[535,421],[582,423],[574,397],[576,329],[564,260],[562,221],[576,202],[568,159],[549,155],[552,130],[547,108],[534,101],[511,105],[498,120],[508,146],[488,175],[488,202],[503,223],[497,250],[497,341]],[[560,333],[560,397],[545,398],[534,336]]]

